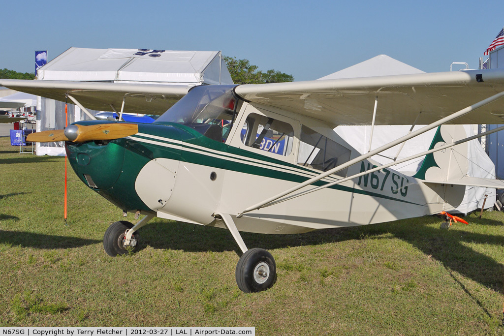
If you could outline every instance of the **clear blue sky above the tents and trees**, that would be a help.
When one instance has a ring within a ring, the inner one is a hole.
[[[0,69],[34,72],[70,47],[222,50],[313,80],[379,54],[426,72],[476,69],[504,26],[502,2],[9,1]]]

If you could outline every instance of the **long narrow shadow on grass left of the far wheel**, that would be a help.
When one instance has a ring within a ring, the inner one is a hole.
[[[69,236],[54,236],[32,232],[0,230],[0,244],[43,249],[73,248],[101,243],[101,240]]]

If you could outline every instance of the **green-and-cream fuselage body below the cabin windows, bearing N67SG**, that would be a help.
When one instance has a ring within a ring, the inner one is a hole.
[[[79,123],[98,122],[104,123]],[[180,124],[139,124],[131,137],[66,147],[79,178],[120,209],[201,225],[224,227],[214,218],[223,212],[233,216],[240,231],[300,233],[418,217],[439,208],[432,189],[384,169],[236,218],[244,208],[317,171],[214,141]],[[372,167],[363,161],[347,174],[362,165]]]

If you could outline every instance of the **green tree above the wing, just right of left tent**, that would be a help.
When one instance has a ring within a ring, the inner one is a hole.
[[[248,59],[236,59],[236,57],[224,56],[227,69],[235,84],[264,84],[292,82],[294,77],[273,69],[266,73],[258,70],[257,65],[250,64]]]

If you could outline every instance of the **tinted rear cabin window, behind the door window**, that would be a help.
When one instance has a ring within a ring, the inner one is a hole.
[[[304,125],[301,126],[298,164],[328,171],[350,160],[351,151]],[[336,175],[345,177],[347,169]]]

